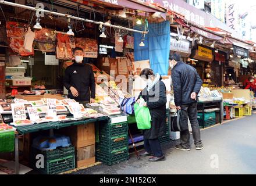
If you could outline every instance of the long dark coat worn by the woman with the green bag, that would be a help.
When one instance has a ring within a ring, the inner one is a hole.
[[[165,134],[166,129],[166,88],[161,81],[162,78],[155,84],[155,86],[148,92],[144,88],[140,92],[140,96],[147,102],[148,109],[151,115],[151,128],[144,131],[145,139],[157,139]]]

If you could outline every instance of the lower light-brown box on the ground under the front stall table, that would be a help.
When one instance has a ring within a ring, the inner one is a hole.
[[[95,144],[76,148],[76,167],[84,167],[95,163]]]

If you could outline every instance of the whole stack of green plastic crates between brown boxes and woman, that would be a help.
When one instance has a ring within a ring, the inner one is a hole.
[[[96,143],[96,159],[107,165],[129,159],[128,125],[122,123],[99,124],[99,142]]]

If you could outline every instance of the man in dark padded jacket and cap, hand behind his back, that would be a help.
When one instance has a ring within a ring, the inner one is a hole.
[[[170,69],[172,69],[172,83],[175,105],[177,110],[182,110],[182,122],[188,123],[189,117],[195,149],[204,148],[200,137],[200,127],[197,120],[197,95],[200,92],[202,80],[194,67],[180,62],[180,55],[174,53],[170,56]],[[190,151],[189,129],[180,132],[180,145],[175,148]]]

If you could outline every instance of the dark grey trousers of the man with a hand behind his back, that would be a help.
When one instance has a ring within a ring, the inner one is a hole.
[[[187,117],[189,117],[194,144],[201,145],[201,134],[200,127],[197,120],[197,102],[191,103],[189,105],[182,105],[182,121],[188,123]],[[180,132],[180,142],[186,148],[190,148],[190,132],[189,129]]]

